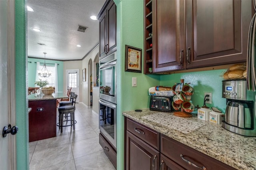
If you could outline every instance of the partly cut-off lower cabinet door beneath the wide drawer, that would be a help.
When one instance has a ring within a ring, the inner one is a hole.
[[[163,154],[160,156],[160,168],[159,170],[186,170],[176,162],[170,160]]]

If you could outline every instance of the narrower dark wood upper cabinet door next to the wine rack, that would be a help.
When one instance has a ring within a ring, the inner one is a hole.
[[[156,0],[153,5],[153,72],[183,69],[184,0]]]

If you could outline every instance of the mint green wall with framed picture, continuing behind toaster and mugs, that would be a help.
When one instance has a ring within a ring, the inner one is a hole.
[[[202,106],[204,92],[212,92],[213,104],[207,106],[225,109],[226,100],[221,98],[222,78],[224,70],[178,73],[171,75],[145,75],[124,71],[125,45],[142,49],[144,54],[144,1],[114,0],[117,6],[117,169],[124,168],[124,117],[122,111],[148,108],[148,88],[157,85],[173,86],[180,79],[190,82],[195,93],[192,102]],[[142,60],[143,63],[143,60]],[[132,87],[132,77],[137,77],[137,87]],[[193,113],[195,113],[194,111]]]

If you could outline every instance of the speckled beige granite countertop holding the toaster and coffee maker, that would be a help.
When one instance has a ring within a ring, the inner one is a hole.
[[[200,120],[196,115],[175,118],[173,113],[149,109],[124,111],[122,114],[238,170],[256,170],[256,137],[232,133],[221,124]],[[175,119],[176,127],[172,123],[166,124],[163,121],[166,117]],[[182,123],[178,124],[177,119]]]

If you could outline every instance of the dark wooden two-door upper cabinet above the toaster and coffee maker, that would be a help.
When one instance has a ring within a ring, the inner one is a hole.
[[[153,73],[246,61],[251,0],[151,3]],[[145,65],[147,46],[145,36]]]

